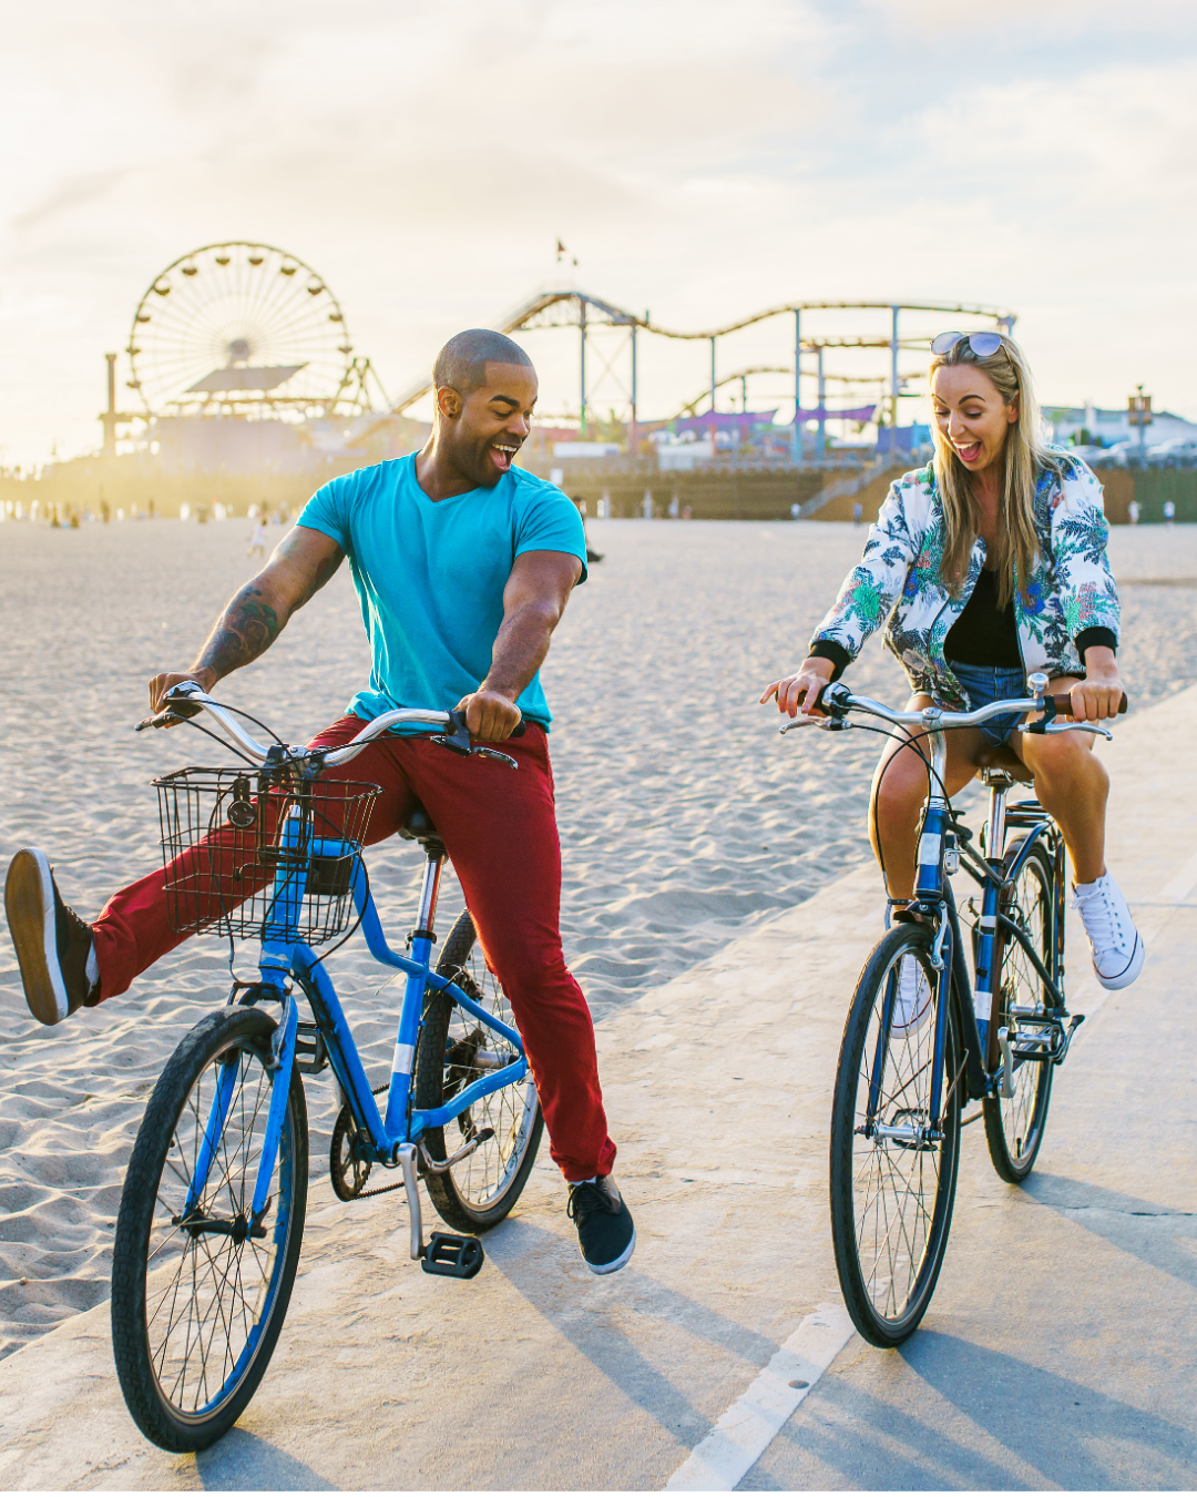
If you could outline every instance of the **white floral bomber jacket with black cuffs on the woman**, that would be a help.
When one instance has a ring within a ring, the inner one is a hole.
[[[1058,472],[1040,472],[1038,557],[1026,597],[1020,585],[1014,591],[1014,617],[1028,675],[1083,675],[1077,638],[1089,629],[1109,629],[1118,636],[1118,588],[1106,557],[1109,525],[1097,476],[1062,448],[1050,452]],[[865,552],[815,630],[811,648],[821,642],[820,653],[844,666],[886,624],[886,645],[901,660],[911,689],[941,707],[968,710],[967,693],[944,657],[944,641],[977,585],[986,545],[980,536],[973,543],[959,597],[940,579],[943,554],[944,513],[928,464],[890,485]]]

